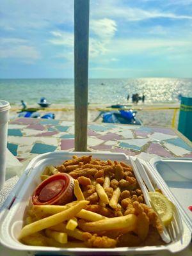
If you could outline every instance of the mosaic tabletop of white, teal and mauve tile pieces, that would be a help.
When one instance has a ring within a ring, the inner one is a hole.
[[[8,149],[19,161],[55,150],[74,150],[74,123],[63,120],[16,118],[8,127]],[[192,147],[170,128],[119,124],[88,125],[88,150],[141,152],[161,157],[192,157]]]

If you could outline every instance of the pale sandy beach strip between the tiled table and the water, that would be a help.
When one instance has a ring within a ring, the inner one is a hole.
[[[107,104],[91,104],[88,106],[88,122],[94,122],[95,118],[99,115],[100,111],[110,111],[111,108],[107,108]],[[28,108],[38,108],[36,104],[28,106]],[[127,108],[136,109],[138,113],[136,116],[141,120],[143,125],[150,126],[163,126],[172,127],[172,118],[175,108],[179,108],[179,104],[127,104]],[[115,110],[115,109],[113,109]],[[18,106],[13,105],[10,111],[10,117],[15,118],[20,111]],[[40,109],[38,108],[40,115],[45,113],[54,113],[56,119],[74,121],[74,105],[69,104],[52,104],[50,108]],[[175,128],[179,118],[179,111],[175,118]],[[96,122],[102,122],[102,118],[99,118]]]

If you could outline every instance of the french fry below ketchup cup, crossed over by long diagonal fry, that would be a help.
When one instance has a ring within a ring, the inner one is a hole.
[[[74,201],[76,204],[78,201]],[[68,205],[33,205],[32,211],[35,213],[35,216],[40,216],[41,218],[44,218],[46,216],[50,216],[53,214],[57,214],[58,212],[65,211],[70,207],[70,204]],[[98,214],[96,212],[87,211],[82,209],[76,214],[76,217],[88,220],[88,221],[98,221],[98,220],[104,220],[107,219],[107,217],[102,216],[101,214]]]

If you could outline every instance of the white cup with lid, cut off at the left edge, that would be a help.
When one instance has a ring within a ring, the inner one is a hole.
[[[0,189],[3,189],[6,170],[6,144],[10,104],[0,100]]]

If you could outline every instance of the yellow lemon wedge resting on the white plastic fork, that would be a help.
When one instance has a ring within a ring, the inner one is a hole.
[[[149,192],[148,195],[150,196],[154,210],[159,215],[164,226],[169,225],[173,218],[174,208],[172,202],[159,192]]]

